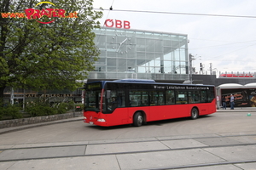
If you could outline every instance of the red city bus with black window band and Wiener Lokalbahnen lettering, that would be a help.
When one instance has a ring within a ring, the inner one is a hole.
[[[84,122],[109,127],[216,112],[212,85],[159,83],[124,79],[84,85]]]

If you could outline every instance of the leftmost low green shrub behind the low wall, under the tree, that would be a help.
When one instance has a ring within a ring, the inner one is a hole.
[[[22,118],[20,107],[16,105],[4,105],[0,110],[0,120]]]

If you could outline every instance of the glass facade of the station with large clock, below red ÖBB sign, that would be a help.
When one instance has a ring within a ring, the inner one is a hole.
[[[101,54],[88,79],[189,79],[187,35],[107,27],[94,32]]]

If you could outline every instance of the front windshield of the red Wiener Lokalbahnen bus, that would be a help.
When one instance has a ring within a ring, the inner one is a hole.
[[[101,90],[87,90],[85,92],[84,111],[100,111]]]

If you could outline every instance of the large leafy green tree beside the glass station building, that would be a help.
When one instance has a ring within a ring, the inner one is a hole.
[[[100,53],[92,30],[100,26],[96,20],[102,12],[93,11],[92,3],[93,0],[0,2],[0,99],[6,87],[81,86],[76,80],[86,78]],[[29,8],[31,11],[26,11]],[[42,18],[27,18],[28,12],[38,11]],[[69,13],[72,14],[67,17]]]

